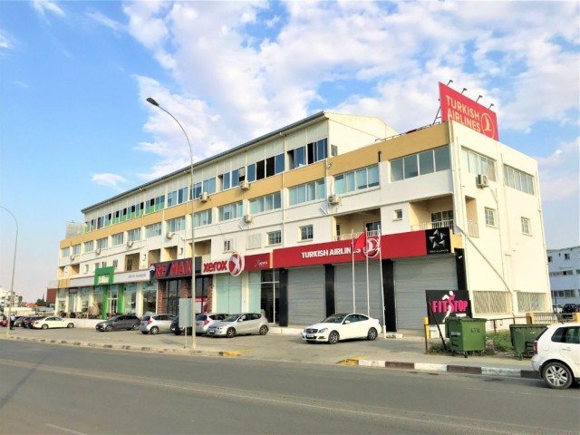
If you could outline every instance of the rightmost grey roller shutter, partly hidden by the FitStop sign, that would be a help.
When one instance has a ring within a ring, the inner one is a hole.
[[[454,256],[395,261],[397,329],[422,329],[425,290],[457,290]]]

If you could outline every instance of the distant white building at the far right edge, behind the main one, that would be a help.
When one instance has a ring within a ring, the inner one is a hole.
[[[554,304],[580,304],[580,247],[547,250]]]

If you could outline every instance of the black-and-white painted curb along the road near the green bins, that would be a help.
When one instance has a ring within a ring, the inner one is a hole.
[[[498,367],[478,367],[469,365],[454,364],[432,364],[428,362],[394,362],[394,361],[377,361],[377,360],[343,360],[338,362],[342,365],[358,365],[361,367],[399,369],[399,370],[416,370],[418,372],[447,372],[447,373],[465,373],[480,374],[483,376],[503,376],[509,378],[540,379],[537,372],[533,370],[520,369],[503,369]]]

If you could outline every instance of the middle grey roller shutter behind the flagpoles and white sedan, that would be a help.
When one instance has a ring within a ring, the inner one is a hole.
[[[356,313],[367,314],[366,264],[354,264],[354,304]],[[343,264],[334,267],[334,295],[336,313],[353,312],[353,265]],[[382,286],[381,265],[378,261],[369,261],[369,299],[371,317],[379,319],[382,324]]]

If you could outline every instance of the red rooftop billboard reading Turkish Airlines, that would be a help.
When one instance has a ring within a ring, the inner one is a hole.
[[[441,121],[456,121],[493,140],[499,140],[498,118],[494,111],[439,83]]]

